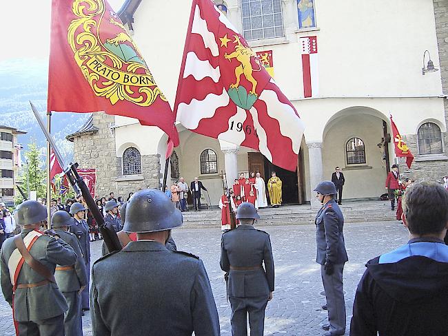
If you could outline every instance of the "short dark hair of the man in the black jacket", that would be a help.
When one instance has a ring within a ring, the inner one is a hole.
[[[403,196],[403,213],[415,235],[440,233],[448,223],[448,191],[437,183],[416,183]]]

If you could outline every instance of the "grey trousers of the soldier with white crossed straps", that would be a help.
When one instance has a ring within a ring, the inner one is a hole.
[[[41,321],[18,322],[19,336],[64,336],[64,315]]]

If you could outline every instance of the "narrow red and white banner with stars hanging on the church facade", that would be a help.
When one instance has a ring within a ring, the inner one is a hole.
[[[303,96],[305,98],[318,96],[318,54],[317,37],[301,37]]]

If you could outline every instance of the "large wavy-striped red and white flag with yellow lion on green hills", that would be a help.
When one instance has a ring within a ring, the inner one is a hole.
[[[296,109],[210,0],[193,0],[174,113],[192,132],[296,170],[304,129]]]

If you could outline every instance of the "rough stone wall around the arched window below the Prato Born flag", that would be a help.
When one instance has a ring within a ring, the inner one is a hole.
[[[93,114],[93,125],[99,131],[74,138],[74,160],[80,168],[96,169],[96,196],[109,195],[128,198],[130,192],[146,187],[160,189],[160,155],[141,156],[141,175],[123,176],[122,159],[116,157],[114,116],[103,112]]]

